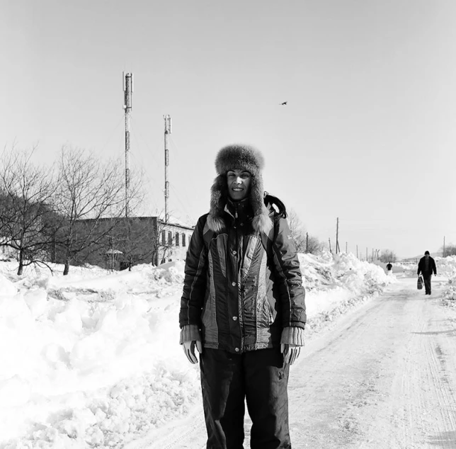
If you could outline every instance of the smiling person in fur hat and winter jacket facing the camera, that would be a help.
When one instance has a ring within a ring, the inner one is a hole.
[[[287,382],[304,346],[306,308],[300,262],[278,198],[263,191],[263,156],[220,149],[210,212],[196,224],[186,257],[179,324],[191,363],[200,353],[207,449],[244,443],[291,448]]]

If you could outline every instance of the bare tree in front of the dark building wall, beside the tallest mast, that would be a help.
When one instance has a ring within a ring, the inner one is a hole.
[[[91,251],[99,251],[121,217],[125,205],[132,208],[138,186],[130,185],[125,198],[122,164],[102,163],[93,153],[74,147],[62,147],[59,159],[59,195],[56,209],[62,223],[56,230],[56,246],[64,261],[64,275],[72,261]]]

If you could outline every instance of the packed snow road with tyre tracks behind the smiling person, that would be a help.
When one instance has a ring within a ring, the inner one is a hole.
[[[293,448],[456,448],[455,343],[435,281],[426,296],[402,278],[348,312],[292,365]],[[201,407],[127,447],[205,448]]]

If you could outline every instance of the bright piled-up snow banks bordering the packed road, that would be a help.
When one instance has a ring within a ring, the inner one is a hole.
[[[397,282],[352,254],[300,262],[308,339]],[[178,345],[183,262],[16,268],[0,262],[1,449],[122,448],[200,402],[198,365]]]

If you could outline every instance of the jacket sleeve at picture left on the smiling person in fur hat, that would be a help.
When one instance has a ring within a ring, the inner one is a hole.
[[[206,216],[200,217],[187,249],[185,278],[179,312],[179,326],[201,327],[201,311],[206,292],[207,250],[203,239]],[[189,329],[186,327],[186,329]]]

